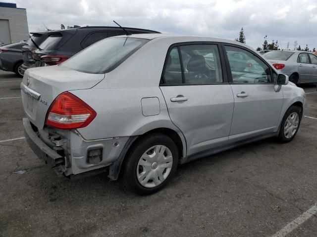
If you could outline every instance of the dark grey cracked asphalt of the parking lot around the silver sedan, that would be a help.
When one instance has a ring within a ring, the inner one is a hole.
[[[0,72],[0,98],[21,79]],[[303,87],[316,91],[316,85]],[[317,118],[317,93],[306,116]],[[21,99],[0,99],[0,141],[23,137]],[[274,139],[177,169],[161,192],[139,197],[106,175],[70,181],[24,139],[0,143],[0,237],[269,237],[317,203],[317,119],[288,144]],[[314,237],[317,216],[289,237]]]

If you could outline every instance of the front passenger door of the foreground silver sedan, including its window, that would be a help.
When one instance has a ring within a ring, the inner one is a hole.
[[[224,45],[224,51],[226,55],[239,53],[248,59],[244,67],[237,67],[236,61],[227,57],[234,96],[229,140],[234,142],[276,131],[283,104],[282,91],[274,90],[277,74],[258,55],[244,47]]]

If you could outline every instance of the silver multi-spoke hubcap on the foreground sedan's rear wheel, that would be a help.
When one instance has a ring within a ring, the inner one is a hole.
[[[139,183],[146,188],[153,188],[161,184],[169,175],[173,165],[171,151],[157,145],[148,149],[140,158],[137,166]]]

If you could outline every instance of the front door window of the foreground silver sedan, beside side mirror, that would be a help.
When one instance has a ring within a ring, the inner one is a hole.
[[[271,83],[270,68],[253,53],[225,46],[233,83]]]

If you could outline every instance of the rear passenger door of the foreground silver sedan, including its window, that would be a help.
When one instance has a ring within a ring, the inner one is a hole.
[[[177,44],[167,53],[160,89],[187,155],[228,142],[233,95],[221,61],[216,43]]]

